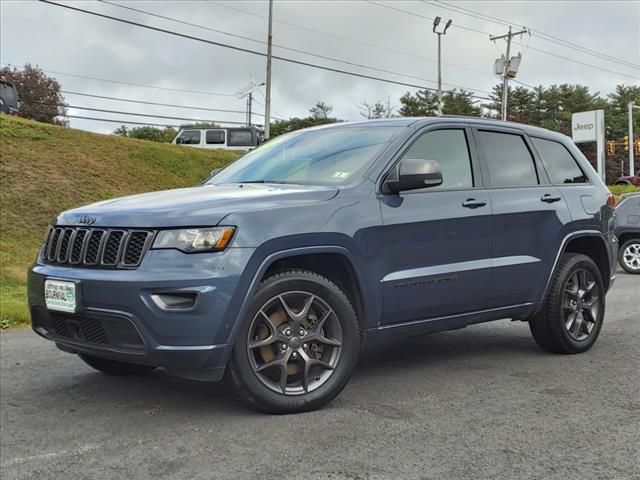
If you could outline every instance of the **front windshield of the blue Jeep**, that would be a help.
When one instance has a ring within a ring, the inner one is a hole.
[[[353,180],[402,127],[305,130],[269,140],[207,182],[339,185]]]

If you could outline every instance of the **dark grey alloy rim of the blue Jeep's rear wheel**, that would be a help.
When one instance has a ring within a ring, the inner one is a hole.
[[[600,290],[593,274],[585,269],[573,272],[565,286],[562,305],[569,336],[586,340],[596,326],[600,308]]]

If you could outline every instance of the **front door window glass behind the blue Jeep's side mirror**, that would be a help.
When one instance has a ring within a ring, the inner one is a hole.
[[[402,157],[435,160],[440,164],[442,185],[429,190],[473,187],[469,145],[462,129],[433,130],[424,133]]]

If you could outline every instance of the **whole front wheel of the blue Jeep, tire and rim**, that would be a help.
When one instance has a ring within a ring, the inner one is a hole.
[[[227,373],[238,396],[254,408],[315,410],[347,384],[360,339],[355,311],[342,290],[314,272],[285,271],[258,287]]]

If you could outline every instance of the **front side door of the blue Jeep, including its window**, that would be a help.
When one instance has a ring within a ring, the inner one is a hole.
[[[402,158],[436,160],[443,184],[381,195],[383,324],[481,310],[491,272],[491,199],[471,130],[417,135]]]

